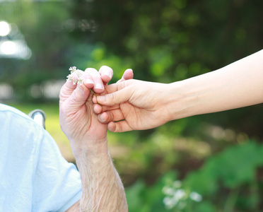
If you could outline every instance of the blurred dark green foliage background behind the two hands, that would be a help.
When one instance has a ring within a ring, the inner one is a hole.
[[[48,111],[54,122],[47,130],[65,143],[56,134],[58,100],[31,97],[33,84],[64,79],[73,65],[110,66],[112,82],[127,68],[134,78],[162,83],[214,71],[262,49],[262,8],[259,0],[0,1],[0,20],[16,23],[33,52],[28,60],[0,58],[0,82],[15,89],[8,104]],[[129,211],[263,211],[262,120],[255,105],[110,133]],[[165,207],[173,194],[164,187],[185,196]]]

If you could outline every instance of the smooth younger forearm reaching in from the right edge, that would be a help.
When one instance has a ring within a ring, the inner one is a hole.
[[[209,73],[172,83],[173,119],[263,102],[263,50]]]

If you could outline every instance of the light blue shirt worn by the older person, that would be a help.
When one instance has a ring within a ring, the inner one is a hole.
[[[66,211],[81,179],[57,143],[27,115],[0,104],[0,212]]]

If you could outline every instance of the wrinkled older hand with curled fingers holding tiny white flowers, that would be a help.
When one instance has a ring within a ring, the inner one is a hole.
[[[90,68],[71,71],[61,89],[59,101],[60,124],[69,141],[81,144],[83,140],[105,138],[107,126],[98,122],[97,115],[93,113],[90,89],[103,93],[112,75],[112,69],[107,66],[102,66],[100,71]]]

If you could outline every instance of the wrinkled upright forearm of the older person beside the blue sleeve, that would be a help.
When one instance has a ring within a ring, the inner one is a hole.
[[[128,211],[124,187],[106,149],[107,140],[89,141],[74,151],[81,173],[80,211]]]

